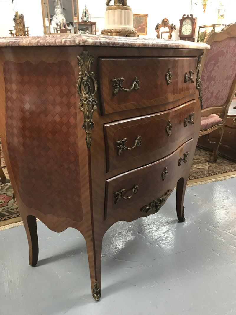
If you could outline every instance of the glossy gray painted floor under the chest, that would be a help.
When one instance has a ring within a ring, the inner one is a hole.
[[[85,240],[38,222],[39,263],[28,265],[23,226],[0,232],[1,315],[236,314],[236,178],[175,192],[156,215],[104,236],[102,298],[93,300]]]

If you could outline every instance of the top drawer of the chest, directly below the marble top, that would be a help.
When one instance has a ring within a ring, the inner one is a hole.
[[[196,70],[194,57],[99,58],[98,64],[102,115],[179,100],[196,91],[196,72],[185,80],[185,73]]]

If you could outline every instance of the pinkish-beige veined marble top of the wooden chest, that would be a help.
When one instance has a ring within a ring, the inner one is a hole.
[[[60,34],[45,36],[0,37],[0,47],[36,46],[107,46],[210,49],[206,43],[173,39],[118,37],[104,35]]]

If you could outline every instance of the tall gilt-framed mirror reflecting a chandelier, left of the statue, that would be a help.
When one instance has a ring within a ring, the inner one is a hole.
[[[41,0],[44,35],[74,34],[79,21],[78,0]]]

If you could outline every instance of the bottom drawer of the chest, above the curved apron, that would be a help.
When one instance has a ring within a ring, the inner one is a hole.
[[[188,152],[193,149],[192,145],[193,139],[162,160],[106,180],[104,220],[117,214],[119,220],[124,220],[127,213],[135,219],[157,212],[159,209],[150,209],[149,204],[157,200],[156,204],[160,202],[162,206],[179,178],[186,175],[191,164]],[[184,159],[184,154],[185,163],[180,160]]]

